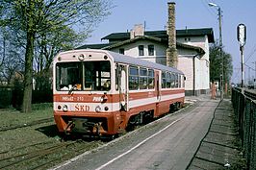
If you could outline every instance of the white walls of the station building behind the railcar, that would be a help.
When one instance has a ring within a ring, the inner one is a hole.
[[[192,36],[179,37],[178,42],[186,43],[192,46],[198,46],[206,52],[203,56],[196,57],[195,64],[195,90],[210,88],[210,63],[209,63],[209,43],[207,36]],[[190,38],[190,39],[189,39]],[[154,56],[148,56],[147,46],[153,44],[155,48]],[[144,56],[139,56],[139,45],[144,45]],[[136,42],[125,44],[123,46],[112,49],[112,51],[119,52],[119,48],[124,48],[124,54],[136,57],[146,61],[153,61],[166,65],[166,45],[152,40],[137,40]],[[185,90],[192,90],[193,88],[193,56],[197,52],[189,49],[178,49],[178,69],[183,71],[186,76]]]

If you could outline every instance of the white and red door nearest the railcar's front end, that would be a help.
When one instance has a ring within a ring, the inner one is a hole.
[[[128,94],[128,67],[127,65],[118,64],[118,89],[119,89],[119,103],[120,109],[129,110],[129,94]]]

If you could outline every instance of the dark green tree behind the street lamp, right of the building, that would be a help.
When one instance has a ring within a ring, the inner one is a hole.
[[[230,54],[222,50],[222,59],[223,59],[223,82],[229,83],[231,80],[233,65],[232,57]],[[222,59],[219,56],[219,45],[218,43],[213,44],[210,47],[210,80],[214,82],[219,81],[221,75],[221,63]]]

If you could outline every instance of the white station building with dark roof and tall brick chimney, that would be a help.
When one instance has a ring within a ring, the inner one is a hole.
[[[145,31],[142,25],[135,25],[130,32],[113,33],[101,38],[108,40],[108,43],[88,44],[78,49],[110,50],[164,65],[170,62],[173,64],[170,66],[177,67],[186,76],[186,95],[206,94],[210,91],[209,43],[214,42],[213,29],[176,30],[174,5],[168,3],[167,30]],[[170,57],[168,50],[172,50]]]

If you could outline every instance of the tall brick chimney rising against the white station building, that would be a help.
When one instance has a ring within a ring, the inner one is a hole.
[[[167,35],[166,65],[177,68],[178,53],[176,49],[175,2],[168,2]]]

